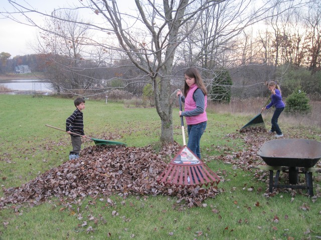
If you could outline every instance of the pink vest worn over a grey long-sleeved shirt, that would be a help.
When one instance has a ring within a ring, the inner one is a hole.
[[[196,108],[196,102],[193,99],[193,94],[195,90],[198,88],[196,84],[190,86],[189,91],[187,92],[187,96],[185,98],[184,110],[190,111]],[[206,106],[207,106],[207,96],[205,95],[205,105],[204,105],[204,112],[196,115],[196,116],[186,116],[186,123],[188,125],[194,125],[201,123],[203,121],[207,121],[207,114],[206,114]]]

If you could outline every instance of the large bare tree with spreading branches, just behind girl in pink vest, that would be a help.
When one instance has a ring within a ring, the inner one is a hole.
[[[39,26],[29,13],[72,21],[40,12],[29,5],[18,3],[18,0],[8,1],[16,7],[16,13],[27,17],[29,24]],[[188,50],[188,62],[184,63],[184,67],[197,65],[204,72],[210,70],[206,77],[212,79],[217,65],[228,64],[233,51],[230,44],[235,36],[245,27],[280,13],[271,11],[276,3],[261,0],[134,2],[131,10],[124,10],[123,1],[80,0],[81,6],[70,9],[82,10],[82,16],[87,15],[91,19],[90,22],[74,21],[96,32],[87,45],[115,50],[118,56],[125,54],[129,59],[126,67],[135,66],[139,69],[139,75],[133,76],[132,80],[152,83],[156,111],[162,121],[162,142],[172,142],[174,139],[172,107],[176,97],[172,85],[174,81],[182,79],[183,75],[182,71],[173,72],[180,59],[178,47],[182,46],[181,53]],[[283,4],[286,9],[299,7],[301,1],[277,0],[277,4]],[[13,17],[15,12],[7,14]]]

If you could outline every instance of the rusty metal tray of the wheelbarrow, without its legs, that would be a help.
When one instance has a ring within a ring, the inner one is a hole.
[[[270,166],[312,167],[321,158],[321,142],[274,139],[266,141],[257,154]]]

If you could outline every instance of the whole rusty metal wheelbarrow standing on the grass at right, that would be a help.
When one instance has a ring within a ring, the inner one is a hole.
[[[268,165],[256,166],[255,168],[268,169],[270,171],[270,192],[272,192],[273,186],[291,187],[308,189],[309,195],[313,195],[312,172],[321,172],[321,169],[313,168],[321,158],[321,142],[309,139],[274,139],[266,141],[257,154]],[[274,184],[273,170],[277,170]],[[278,184],[280,170],[288,172],[291,185]],[[298,183],[298,173],[305,174],[306,185],[296,185]]]

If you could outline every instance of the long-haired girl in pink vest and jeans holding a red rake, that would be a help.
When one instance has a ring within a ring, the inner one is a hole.
[[[200,140],[206,124],[207,90],[203,83],[201,74],[195,67],[188,68],[185,72],[184,96],[178,90],[176,95],[181,95],[184,104],[184,111],[180,116],[185,116],[189,140],[187,147],[191,149],[200,159]]]

